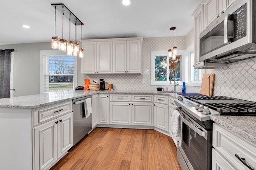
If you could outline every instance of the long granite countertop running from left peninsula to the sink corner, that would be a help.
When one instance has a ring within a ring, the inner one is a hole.
[[[172,98],[176,98],[177,95],[174,93],[157,92],[156,90],[70,90],[66,92],[54,92],[13,98],[3,98],[0,99],[0,108],[34,109],[93,94],[161,94],[171,96]]]

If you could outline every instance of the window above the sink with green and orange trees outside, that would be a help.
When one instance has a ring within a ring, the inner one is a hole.
[[[167,57],[168,51],[151,51],[151,85],[167,85],[174,81],[174,71],[176,71],[175,81],[181,81],[181,55],[177,55],[175,61]]]

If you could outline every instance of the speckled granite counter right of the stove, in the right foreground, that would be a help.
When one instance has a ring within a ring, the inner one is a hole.
[[[256,116],[216,116],[211,119],[256,144]]]

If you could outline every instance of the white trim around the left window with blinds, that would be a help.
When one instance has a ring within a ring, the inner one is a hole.
[[[67,56],[66,52],[59,50],[40,50],[40,94],[43,94],[43,60],[45,57]],[[74,57],[73,88],[77,86],[77,57]],[[73,89],[74,90],[74,89]]]

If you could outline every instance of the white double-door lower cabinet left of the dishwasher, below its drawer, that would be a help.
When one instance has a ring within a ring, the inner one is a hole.
[[[34,169],[50,168],[73,146],[73,113],[33,128]]]

